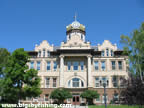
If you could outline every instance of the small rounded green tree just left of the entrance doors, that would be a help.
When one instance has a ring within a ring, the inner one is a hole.
[[[50,98],[58,100],[59,104],[64,103],[65,99],[72,98],[71,93],[66,89],[55,89],[52,91]]]

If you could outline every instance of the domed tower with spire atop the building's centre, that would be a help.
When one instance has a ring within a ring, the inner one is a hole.
[[[85,26],[80,24],[75,17],[75,21],[66,27],[66,35],[67,41],[69,41],[73,35],[77,35],[83,42],[85,42]]]

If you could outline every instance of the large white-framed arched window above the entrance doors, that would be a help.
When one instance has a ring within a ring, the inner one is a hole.
[[[84,82],[79,78],[73,78],[68,81],[68,87],[84,87]]]

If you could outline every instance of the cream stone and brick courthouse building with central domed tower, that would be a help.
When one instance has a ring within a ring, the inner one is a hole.
[[[93,101],[101,104],[104,103],[104,82],[107,102],[118,98],[115,94],[123,88],[122,79],[128,77],[128,57],[109,40],[91,46],[86,38],[85,26],[75,20],[66,27],[66,42],[54,46],[44,40],[35,46],[34,51],[29,51],[31,61],[28,65],[38,70],[42,94],[26,101],[51,103],[54,101],[49,98],[51,92],[56,88],[66,88],[73,96],[66,100],[67,103],[85,103],[80,94],[90,89],[98,91],[100,97]]]

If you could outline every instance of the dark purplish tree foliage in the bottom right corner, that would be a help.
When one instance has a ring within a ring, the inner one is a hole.
[[[121,101],[128,105],[144,105],[144,83],[139,76],[131,75],[121,92]]]

